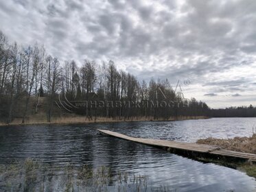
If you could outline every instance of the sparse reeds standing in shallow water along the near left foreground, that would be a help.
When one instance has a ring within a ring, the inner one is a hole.
[[[105,166],[56,167],[32,158],[0,165],[3,191],[146,191],[150,188],[148,176],[115,172]]]

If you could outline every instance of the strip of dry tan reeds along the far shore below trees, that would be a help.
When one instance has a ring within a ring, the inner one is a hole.
[[[86,123],[115,123],[115,122],[133,122],[133,121],[183,121],[191,119],[209,119],[205,116],[193,116],[193,117],[172,117],[168,119],[153,117],[130,117],[130,118],[106,118],[106,117],[54,117],[51,122],[47,120],[30,118],[25,123],[21,123],[21,119],[14,119],[12,123],[0,122],[0,127],[12,126],[12,125],[72,125],[72,124],[86,124]]]

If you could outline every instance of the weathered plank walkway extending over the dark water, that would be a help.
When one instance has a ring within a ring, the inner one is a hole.
[[[155,147],[166,147],[169,149],[178,149],[187,152],[199,152],[202,154],[211,154],[213,156],[224,156],[230,158],[240,158],[244,160],[251,160],[256,162],[255,154],[248,154],[242,152],[233,152],[230,150],[222,149],[222,147],[217,145],[205,145],[205,144],[197,144],[197,143],[182,143],[178,141],[168,141],[168,140],[160,140],[160,139],[143,139],[136,138],[132,136],[127,136],[125,134],[119,134],[117,132],[111,132],[108,130],[98,130],[103,134],[107,134],[110,136],[115,136],[119,139],[125,139],[128,141],[134,141],[137,143],[143,143],[146,145],[152,145]]]

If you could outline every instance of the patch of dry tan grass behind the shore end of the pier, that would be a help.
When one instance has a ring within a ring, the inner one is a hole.
[[[256,134],[251,137],[235,137],[234,139],[199,139],[196,143],[219,145],[224,149],[229,149],[236,152],[244,152],[256,154]]]

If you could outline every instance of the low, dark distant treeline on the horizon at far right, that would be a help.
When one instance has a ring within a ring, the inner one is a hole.
[[[256,108],[250,106],[209,110],[209,117],[256,117]]]

